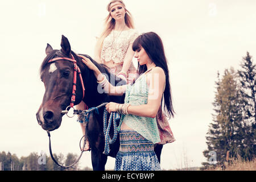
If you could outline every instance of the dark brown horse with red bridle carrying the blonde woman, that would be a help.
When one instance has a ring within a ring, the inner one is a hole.
[[[36,118],[38,123],[44,130],[52,131],[56,130],[61,125],[61,120],[64,114],[61,111],[65,110],[71,103],[72,88],[73,88],[73,74],[74,65],[71,61],[58,60],[52,63],[48,63],[49,60],[55,59],[56,57],[67,57],[76,60],[77,66],[81,70],[82,80],[84,82],[85,97],[83,96],[82,85],[80,78],[77,76],[76,85],[76,100],[75,105],[79,104],[83,100],[86,105],[90,107],[96,107],[104,102],[117,102],[123,103],[124,96],[109,96],[106,93],[98,92],[97,79],[93,72],[82,63],[81,58],[76,55],[75,52],[71,51],[71,46],[68,39],[62,36],[61,49],[56,50],[47,44],[46,58],[44,59],[40,74],[41,79],[44,82],[46,92],[44,93],[43,102],[39,107]],[[118,84],[121,80],[118,77],[109,73],[108,68],[103,64],[98,64],[90,56],[88,57],[92,62],[104,73],[109,80],[114,80],[113,85]],[[120,83],[118,84],[120,85]],[[98,113],[90,115],[88,125],[86,126],[86,135],[88,137],[90,147],[92,148],[92,166],[94,170],[105,170],[107,155],[103,154],[105,146],[105,137],[103,131],[103,114],[105,107],[98,109]],[[118,123],[119,124],[119,123]],[[110,137],[113,137],[113,130],[110,130]],[[162,145],[155,147],[156,155],[160,162],[160,154],[162,151]],[[114,144],[110,144],[110,154],[115,158],[119,150],[119,135]]]

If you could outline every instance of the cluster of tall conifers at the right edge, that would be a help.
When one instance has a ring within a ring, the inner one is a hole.
[[[224,166],[230,158],[250,161],[256,152],[256,65],[249,52],[241,68],[218,73],[213,102],[213,122],[207,133],[208,159],[202,169]]]

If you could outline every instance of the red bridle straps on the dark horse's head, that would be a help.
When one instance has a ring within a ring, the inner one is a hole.
[[[68,60],[68,61],[73,62],[73,64],[74,64],[74,77],[73,77],[73,90],[72,90],[71,103],[70,103],[70,106],[73,107],[74,104],[75,104],[75,101],[76,101],[76,80],[77,80],[76,78],[77,78],[77,73],[80,76],[80,81],[81,81],[81,85],[82,85],[82,99],[84,98],[85,88],[84,88],[84,82],[82,81],[82,75],[81,75],[80,68],[77,66],[74,56],[73,55],[71,55],[71,56],[72,56],[72,59],[70,59],[68,57],[56,57],[56,58],[53,58],[53,59],[49,60],[48,63],[53,63],[53,62],[58,61],[58,60]]]

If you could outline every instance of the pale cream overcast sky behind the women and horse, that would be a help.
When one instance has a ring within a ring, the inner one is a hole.
[[[76,53],[93,56],[102,31],[107,0],[0,2],[0,151],[49,156],[48,137],[36,121],[44,86],[39,68],[47,43],[60,49],[65,35]],[[138,32],[156,32],[163,40],[170,69],[175,118],[170,126],[176,138],[165,144],[163,169],[199,167],[207,162],[205,136],[212,122],[217,72],[240,68],[246,51],[256,56],[256,1],[234,0],[126,0]],[[137,60],[133,59],[135,65]],[[51,132],[52,150],[79,155],[82,136],[76,118],[64,116]],[[218,152],[218,151],[216,151]],[[108,158],[106,169],[114,168]],[[92,167],[84,152],[80,167]]]

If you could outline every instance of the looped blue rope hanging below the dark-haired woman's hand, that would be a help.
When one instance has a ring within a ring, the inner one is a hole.
[[[103,129],[104,129],[104,135],[105,135],[105,150],[104,150],[103,154],[109,155],[109,152],[110,152],[109,144],[113,144],[115,142],[115,140],[117,139],[117,134],[118,134],[117,120],[118,119],[120,119],[120,115],[117,112],[112,112],[110,114],[109,121],[108,121],[108,111],[105,108],[104,115],[103,115],[103,120],[104,120],[104,128]],[[111,139],[110,136],[109,136],[109,131],[110,131],[112,120],[113,120],[113,125],[114,125],[114,136]]]

